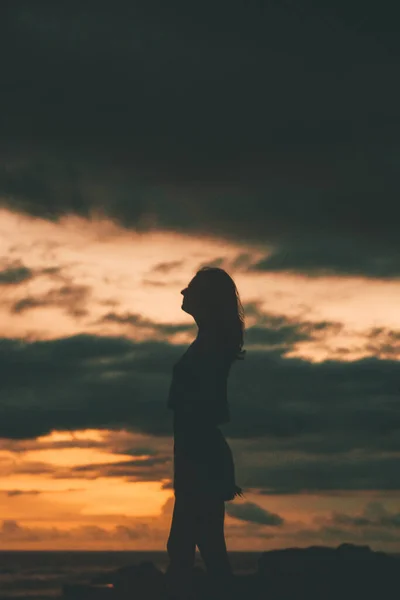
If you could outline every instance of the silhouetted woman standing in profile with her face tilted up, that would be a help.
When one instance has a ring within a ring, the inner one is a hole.
[[[182,310],[198,334],[173,368],[168,407],[174,424],[175,504],[167,550],[170,597],[191,598],[196,545],[214,590],[232,591],[224,536],[225,501],[241,495],[232,452],[219,425],[230,420],[227,379],[242,359],[244,315],[231,277],[200,269],[182,290]]]

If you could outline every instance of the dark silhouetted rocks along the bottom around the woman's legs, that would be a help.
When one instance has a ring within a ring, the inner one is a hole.
[[[256,572],[235,575],[229,594],[213,592],[205,571],[193,571],[195,600],[391,600],[400,598],[400,560],[368,546],[341,544],[264,552]],[[151,562],[127,565],[87,585],[63,587],[65,600],[166,600],[166,578]]]

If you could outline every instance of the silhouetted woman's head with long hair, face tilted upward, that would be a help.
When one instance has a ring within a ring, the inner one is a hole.
[[[203,267],[182,290],[182,310],[199,325],[213,329],[242,358],[244,311],[233,279],[223,269]]]

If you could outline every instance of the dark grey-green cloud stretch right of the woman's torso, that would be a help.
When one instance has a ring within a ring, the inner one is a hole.
[[[249,352],[248,359],[230,379],[232,428],[240,423],[242,436],[247,427],[254,437],[291,438],[321,431],[383,435],[399,426],[396,361],[309,363],[273,351]]]

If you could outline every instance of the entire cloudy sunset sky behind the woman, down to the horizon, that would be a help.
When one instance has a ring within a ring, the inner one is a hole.
[[[394,15],[88,7],[16,0],[2,38],[0,548],[165,549],[180,291],[214,265],[246,316],[228,549],[400,552]]]

